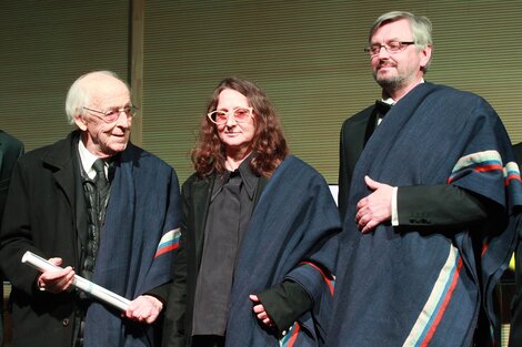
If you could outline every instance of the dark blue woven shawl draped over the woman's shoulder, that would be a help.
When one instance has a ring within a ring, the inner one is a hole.
[[[307,328],[301,329],[299,346],[321,344],[324,336],[318,334],[328,325],[330,312],[319,306],[331,293],[314,266],[300,264],[309,261],[331,274],[339,229],[339,213],[322,176],[294,156],[285,159],[264,188],[243,238],[232,286],[228,347],[279,346],[278,337],[258,324],[249,295],[290,277],[315,300],[317,315],[303,316]]]

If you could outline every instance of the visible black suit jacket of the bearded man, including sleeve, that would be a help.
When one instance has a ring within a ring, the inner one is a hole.
[[[342,124],[338,198],[342,220],[348,207],[353,170],[375,124],[374,105],[362,110]],[[460,227],[485,218],[495,213],[498,207],[488,198],[446,184],[401,186],[396,205],[400,227]]]

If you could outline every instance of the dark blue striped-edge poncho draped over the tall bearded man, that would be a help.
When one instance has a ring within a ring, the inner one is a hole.
[[[468,164],[462,160],[476,153],[496,155],[499,163],[489,163],[499,170],[488,170],[481,155]],[[400,231],[387,224],[363,235],[354,220],[357,203],[371,193],[364,184],[369,175],[392,186],[454,184],[498,202],[508,216],[522,204],[513,161],[499,116],[480,96],[423,83],[401,99],[367,143],[353,173],[327,345],[415,346],[429,339],[429,346],[470,346],[481,303],[494,322],[492,290],[513,249],[519,218],[460,231]],[[453,272],[445,273],[450,299],[436,307],[440,320],[426,322],[424,327],[433,330],[405,343],[444,264]]]

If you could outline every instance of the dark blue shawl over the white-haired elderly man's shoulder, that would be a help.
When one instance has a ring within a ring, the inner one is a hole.
[[[157,257],[161,237],[180,226],[175,172],[129,144],[117,163],[93,282],[130,300],[171,280],[174,252]],[[131,323],[107,305],[88,309],[84,347],[152,346],[152,326]]]

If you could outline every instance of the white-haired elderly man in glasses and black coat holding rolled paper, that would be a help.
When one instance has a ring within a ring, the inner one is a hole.
[[[179,227],[175,172],[129,142],[135,108],[112,72],[80,76],[78,130],[20,159],[0,234],[12,283],[13,346],[154,346]],[[31,251],[62,271],[20,263]],[[82,277],[131,300],[119,312],[72,287]]]

